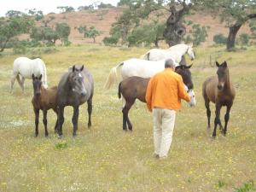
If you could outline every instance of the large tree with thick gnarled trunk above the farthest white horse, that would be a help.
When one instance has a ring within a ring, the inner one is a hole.
[[[192,7],[192,3],[189,2],[186,0],[122,0],[119,5],[127,5],[128,8],[113,24],[110,34],[117,35],[119,33],[124,42],[129,32],[141,25],[141,20],[148,19],[149,15],[157,15],[159,17],[164,15],[164,12],[167,12],[169,17],[166,20],[166,29],[163,32],[163,37],[169,46],[179,44],[186,33],[186,28],[183,26],[183,17],[189,14],[189,10]]]

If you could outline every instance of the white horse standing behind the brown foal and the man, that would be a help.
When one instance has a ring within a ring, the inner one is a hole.
[[[118,74],[117,70],[122,67],[121,79],[127,79],[131,76],[138,76],[141,78],[151,78],[155,73],[159,73],[165,69],[166,60],[161,61],[146,61],[141,59],[132,58],[130,60],[123,61],[116,67],[113,67],[108,74],[108,79],[104,85],[105,89],[109,89],[114,82],[117,82]],[[186,86],[185,86],[186,87]],[[185,88],[188,90],[188,88]],[[189,95],[191,96],[190,106],[195,106],[195,92],[194,90],[189,90]],[[123,100],[123,105],[125,101]]]

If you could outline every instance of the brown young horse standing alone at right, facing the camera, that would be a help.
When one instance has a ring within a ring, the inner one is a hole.
[[[211,110],[209,103],[215,103],[215,119],[214,119],[214,130],[212,132],[212,137],[216,137],[216,128],[219,125],[219,128],[222,130],[223,135],[226,136],[227,125],[230,119],[230,109],[233,105],[236,90],[233,84],[230,81],[230,73],[227,62],[224,61],[222,64],[219,64],[216,61],[216,66],[218,67],[217,76],[208,78],[202,84],[202,95],[204,97],[205,106],[207,108],[207,119],[208,119],[208,129],[210,128],[210,118]],[[224,116],[225,125],[224,130],[219,119],[220,109],[226,106],[226,113]]]

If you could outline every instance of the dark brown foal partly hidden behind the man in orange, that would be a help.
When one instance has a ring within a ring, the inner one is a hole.
[[[175,68],[175,72],[180,74],[183,78],[183,82],[186,86],[193,88],[193,82],[191,79],[191,73],[189,71],[190,66],[178,66]],[[130,131],[132,131],[131,121],[128,117],[129,110],[131,109],[132,105],[136,101],[136,99],[140,100],[141,102],[146,102],[145,96],[148,87],[148,82],[150,78],[144,79],[137,76],[132,76],[128,79],[123,80],[119,83],[119,91],[118,96],[125,99],[125,107],[122,109],[123,113],[123,130],[127,131],[127,126]],[[189,106],[195,106],[195,93],[194,90],[188,89],[189,95],[191,96],[191,101],[189,102]]]

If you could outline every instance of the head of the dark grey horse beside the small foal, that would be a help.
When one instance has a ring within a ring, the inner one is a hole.
[[[84,88],[84,77],[82,75],[82,71],[84,66],[80,68],[76,68],[75,66],[72,67],[72,71],[69,73],[69,84],[72,88],[72,91],[79,96],[86,96],[87,91]]]

